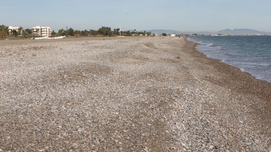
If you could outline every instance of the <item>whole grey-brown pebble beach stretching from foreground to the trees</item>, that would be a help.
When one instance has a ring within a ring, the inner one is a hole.
[[[195,45],[1,41],[0,151],[271,151],[270,83]]]

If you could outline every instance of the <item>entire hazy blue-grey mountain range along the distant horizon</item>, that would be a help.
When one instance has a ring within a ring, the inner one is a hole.
[[[127,31],[127,30],[126,30]],[[134,30],[129,30],[130,32]],[[228,34],[228,35],[239,35],[239,34],[271,34],[271,32],[263,32],[263,31],[258,31],[255,29],[223,29],[217,32],[207,32],[207,31],[202,31],[202,32],[181,32],[181,31],[176,31],[176,30],[171,30],[171,29],[152,29],[152,30],[146,30],[146,32],[152,32],[152,33],[167,33],[167,34],[204,34],[204,35],[209,35],[209,34]],[[144,32],[144,30],[137,31],[137,32]]]

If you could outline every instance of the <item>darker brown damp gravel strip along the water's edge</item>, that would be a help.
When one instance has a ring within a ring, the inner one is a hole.
[[[185,38],[185,41],[188,40]],[[256,95],[260,99],[264,100],[265,106],[263,109],[262,107],[261,108],[253,107],[253,108],[256,108],[259,111],[263,111],[267,115],[271,116],[270,82],[257,79],[249,72],[243,72],[240,68],[224,63],[219,59],[207,57],[207,55],[196,49],[196,47],[200,45],[199,43],[193,41],[188,41],[188,43],[193,45],[192,48],[193,52],[191,53],[188,52],[188,54],[191,54],[193,57],[202,58],[203,60],[206,60],[207,64],[209,64],[215,69],[213,72],[215,72],[221,77],[221,79],[206,78],[206,80],[211,81],[212,83],[220,86],[226,86],[239,93],[244,93],[249,96]],[[203,60],[201,60],[201,63],[206,64],[206,62],[203,62]]]

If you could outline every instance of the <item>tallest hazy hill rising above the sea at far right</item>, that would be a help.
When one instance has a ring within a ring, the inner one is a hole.
[[[223,29],[218,31],[217,34],[228,34],[228,35],[238,35],[238,34],[271,34],[271,32],[263,32],[255,29]]]

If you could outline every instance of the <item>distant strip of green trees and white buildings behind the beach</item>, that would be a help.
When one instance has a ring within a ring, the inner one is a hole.
[[[239,34],[239,35],[228,35],[228,34],[168,34],[168,33],[152,33],[151,31],[136,31],[126,30],[120,31],[120,28],[111,29],[110,27],[102,26],[98,30],[85,29],[85,30],[74,30],[73,28],[59,29],[58,31],[51,30],[48,26],[34,26],[31,29],[23,29],[23,27],[14,27],[0,25],[0,39],[17,39],[17,38],[37,38],[38,37],[118,37],[118,36],[170,36],[170,37],[206,37],[206,36],[260,36],[268,34]]]

